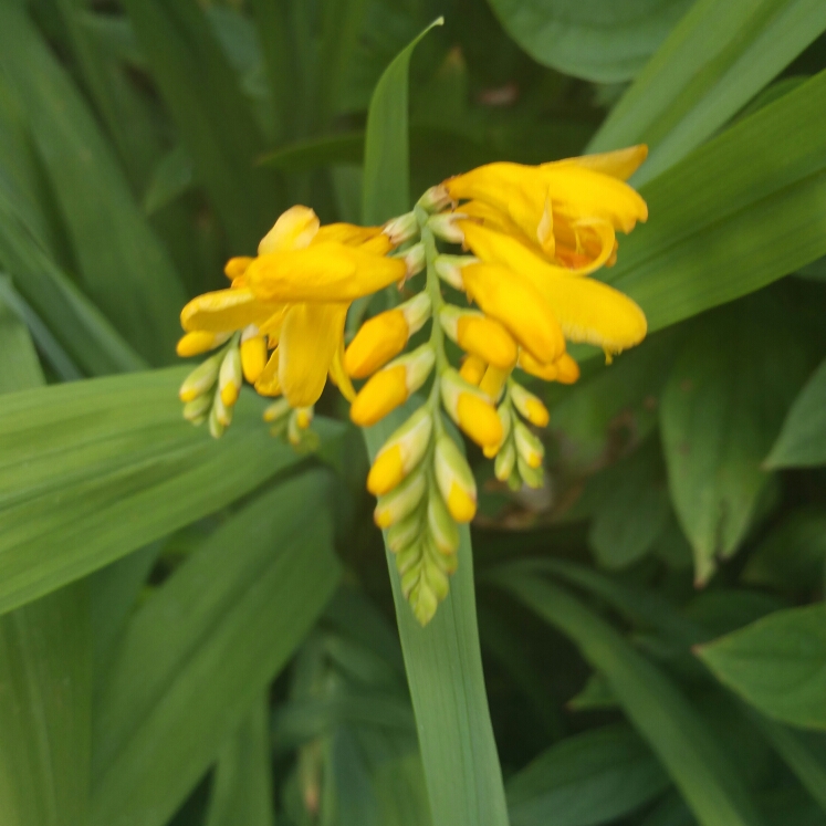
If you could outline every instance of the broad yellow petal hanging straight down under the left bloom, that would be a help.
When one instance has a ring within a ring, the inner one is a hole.
[[[293,407],[310,407],[322,395],[346,314],[346,304],[294,304],[286,311],[279,381]]]

